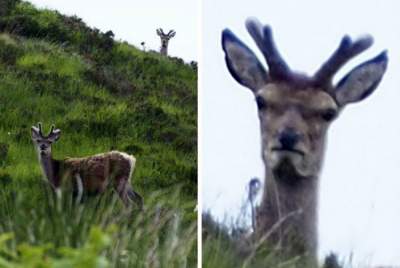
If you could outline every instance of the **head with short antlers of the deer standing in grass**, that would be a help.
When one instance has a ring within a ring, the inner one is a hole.
[[[32,140],[35,147],[41,156],[51,155],[51,145],[60,138],[61,130],[54,129],[54,125],[51,126],[50,133],[44,136],[42,133],[42,124],[38,123],[38,127],[32,126]]]

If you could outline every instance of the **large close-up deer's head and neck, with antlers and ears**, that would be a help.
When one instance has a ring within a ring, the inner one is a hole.
[[[229,29],[222,32],[226,65],[255,97],[265,165],[264,193],[256,234],[289,256],[316,260],[319,172],[326,133],[343,108],[368,97],[387,67],[382,52],[351,70],[337,84],[336,72],[372,45],[365,36],[344,36],[337,50],[313,75],[292,71],[275,46],[271,28],[248,19],[246,28],[268,65]]]

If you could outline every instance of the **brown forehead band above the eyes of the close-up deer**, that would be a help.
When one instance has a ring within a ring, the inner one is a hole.
[[[267,84],[257,92],[267,103],[280,106],[297,106],[311,110],[338,109],[336,101],[318,88],[293,88],[287,84]]]

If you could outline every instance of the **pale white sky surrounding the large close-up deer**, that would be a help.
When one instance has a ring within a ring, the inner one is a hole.
[[[251,177],[264,176],[256,105],[250,90],[240,86],[225,67],[222,29],[230,28],[260,55],[244,27],[247,17],[259,18],[272,26],[289,65],[309,74],[336,49],[344,34],[369,33],[375,38],[373,47],[351,61],[335,80],[384,49],[389,50],[389,67],[377,91],[348,106],[329,130],[320,178],[320,252],[335,251],[347,258],[352,253],[357,267],[400,265],[400,3],[202,3],[203,209],[220,219],[237,216],[246,183]]]

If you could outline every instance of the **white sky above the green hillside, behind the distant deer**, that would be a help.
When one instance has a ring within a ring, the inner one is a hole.
[[[112,30],[115,38],[141,48],[159,51],[157,28],[176,31],[169,42],[168,54],[197,61],[197,1],[185,0],[29,0],[38,7],[56,9],[66,15],[77,15],[89,26]]]

